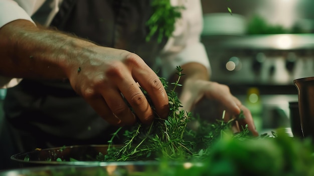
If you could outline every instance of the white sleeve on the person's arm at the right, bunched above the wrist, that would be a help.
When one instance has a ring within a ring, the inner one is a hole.
[[[200,0],[171,0],[173,6],[184,5],[182,18],[161,54],[162,76],[168,78],[176,67],[191,62],[204,65],[211,72],[204,45],[200,42],[203,30],[203,13]],[[181,4],[180,4],[181,3]]]

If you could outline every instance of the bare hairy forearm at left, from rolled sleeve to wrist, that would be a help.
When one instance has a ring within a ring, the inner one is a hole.
[[[0,28],[0,39],[0,75],[18,78],[67,78],[79,67],[77,57],[82,57],[84,47],[78,46],[94,46],[57,31],[39,29],[26,20]]]

